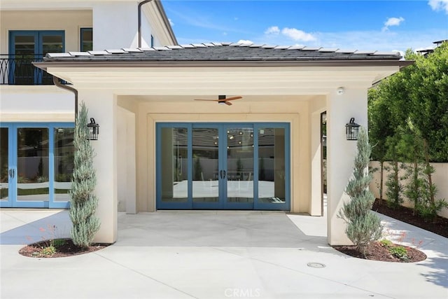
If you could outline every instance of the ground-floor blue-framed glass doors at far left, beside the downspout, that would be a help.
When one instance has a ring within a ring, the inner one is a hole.
[[[69,207],[73,123],[1,123],[0,142],[0,207]]]

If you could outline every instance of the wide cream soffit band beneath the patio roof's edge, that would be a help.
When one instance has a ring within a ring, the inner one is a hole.
[[[74,88],[118,95],[323,95],[370,88],[398,67],[49,68]]]

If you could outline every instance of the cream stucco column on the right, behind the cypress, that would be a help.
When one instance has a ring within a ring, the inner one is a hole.
[[[346,88],[344,94],[336,90],[327,96],[327,195],[328,243],[351,244],[345,235],[346,225],[337,214],[349,196],[344,193],[353,172],[356,141],[346,140],[345,125],[355,118],[367,127],[367,90]]]

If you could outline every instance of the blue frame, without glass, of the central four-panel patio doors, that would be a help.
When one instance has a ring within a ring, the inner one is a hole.
[[[162,202],[161,199],[161,169],[162,169],[162,137],[164,127],[184,127],[188,130],[188,201],[187,202]],[[218,177],[219,191],[218,202],[193,202],[193,129],[216,128],[219,136],[218,169],[227,169],[227,130],[236,127],[253,128],[253,203],[252,202],[227,202],[227,177]],[[283,128],[285,130],[285,196],[283,204],[266,204],[258,202],[258,130],[260,128]],[[257,210],[290,210],[290,124],[289,123],[156,123],[156,207],[157,209],[257,209]]]

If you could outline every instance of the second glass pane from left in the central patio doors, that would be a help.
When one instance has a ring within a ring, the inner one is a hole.
[[[217,128],[193,129],[193,202],[218,202]]]

